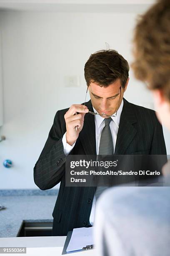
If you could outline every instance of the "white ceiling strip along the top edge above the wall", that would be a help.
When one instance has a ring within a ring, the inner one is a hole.
[[[155,0],[0,0],[0,9],[127,13],[143,11],[154,2]]]

